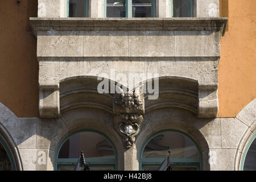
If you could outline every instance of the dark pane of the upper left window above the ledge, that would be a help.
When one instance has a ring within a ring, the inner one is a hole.
[[[84,3],[84,0],[69,0],[69,17],[85,17]]]

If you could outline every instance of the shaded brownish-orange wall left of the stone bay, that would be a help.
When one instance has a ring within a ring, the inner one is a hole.
[[[36,0],[0,1],[0,102],[18,117],[38,117],[36,38],[29,24]]]

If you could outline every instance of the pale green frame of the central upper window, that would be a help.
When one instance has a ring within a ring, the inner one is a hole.
[[[104,5],[103,5],[103,13],[104,13],[104,18],[109,18],[106,16],[106,1],[104,0]],[[151,18],[155,18],[156,16],[156,0],[151,0]],[[133,17],[133,0],[126,0],[126,12],[125,12],[125,18],[135,18]],[[118,18],[118,17],[117,17]],[[139,17],[138,17],[139,18]]]

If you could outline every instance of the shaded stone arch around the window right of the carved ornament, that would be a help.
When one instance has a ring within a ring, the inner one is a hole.
[[[203,159],[203,169],[209,170],[209,146],[204,135],[195,126],[196,114],[191,111],[171,107],[162,107],[154,109],[150,113],[144,115],[144,121],[141,133],[138,134],[135,142],[137,149],[137,160],[139,162],[141,148],[151,135],[162,130],[177,130],[189,135],[199,146]]]

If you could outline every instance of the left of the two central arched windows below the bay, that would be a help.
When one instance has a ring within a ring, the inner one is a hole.
[[[113,143],[96,131],[80,131],[67,137],[57,150],[55,170],[73,171],[80,157],[91,171],[113,171],[117,169],[117,151]]]

